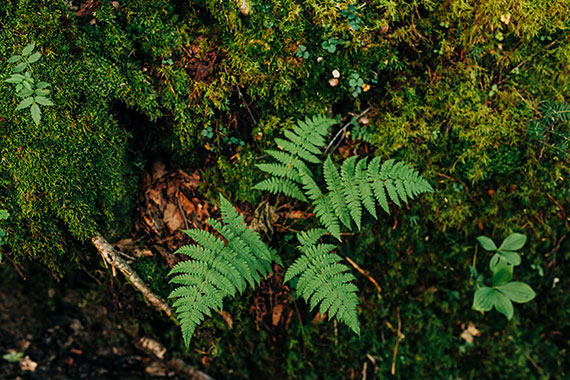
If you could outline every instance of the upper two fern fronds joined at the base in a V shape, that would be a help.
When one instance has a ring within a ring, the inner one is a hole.
[[[352,230],[352,222],[360,230],[362,209],[375,219],[376,203],[390,213],[388,201],[397,206],[424,192],[432,192],[430,184],[404,162],[387,160],[380,168],[380,158],[367,162],[357,156],[347,158],[340,173],[330,157],[323,164],[326,193],[319,188],[308,163],[319,163],[317,155],[325,145],[324,136],[336,121],[315,117],[299,122],[293,131],[285,131],[287,139],[275,139],[283,151],[267,153],[277,162],[259,164],[271,175],[256,189],[282,193],[302,201],[311,201],[315,214],[327,231],[340,240],[341,225]]]

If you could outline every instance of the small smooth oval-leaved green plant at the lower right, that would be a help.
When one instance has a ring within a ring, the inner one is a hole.
[[[521,263],[521,257],[516,252],[526,243],[526,236],[514,233],[509,236],[497,248],[493,240],[487,236],[479,236],[477,241],[484,250],[495,252],[489,261],[489,268],[493,273],[492,286],[483,284],[483,276],[472,267],[472,273],[477,279],[477,290],[473,297],[473,309],[489,311],[493,307],[510,320],[514,314],[513,302],[526,303],[531,301],[536,294],[534,290],[524,282],[511,281],[513,268]]]

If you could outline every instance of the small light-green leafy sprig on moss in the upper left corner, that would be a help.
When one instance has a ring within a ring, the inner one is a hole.
[[[11,76],[5,82],[16,85],[16,96],[23,98],[16,110],[29,107],[32,120],[37,125],[40,123],[42,115],[40,105],[53,106],[53,103],[47,97],[50,92],[47,88],[50,84],[47,82],[36,83],[32,76],[31,65],[42,56],[40,52],[32,54],[35,46],[34,43],[31,43],[22,50],[21,55],[14,55],[8,59],[8,63],[17,63],[17,65],[12,68]]]

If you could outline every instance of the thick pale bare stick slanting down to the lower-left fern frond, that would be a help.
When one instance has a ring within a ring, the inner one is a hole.
[[[172,313],[172,309],[162,298],[156,295],[139,277],[139,275],[131,268],[131,266],[113,249],[111,244],[101,235],[91,238],[93,245],[103,257],[103,261],[109,263],[114,269],[121,271],[130,283],[141,292],[148,302],[157,310],[164,312],[170,319],[178,324],[178,321]]]

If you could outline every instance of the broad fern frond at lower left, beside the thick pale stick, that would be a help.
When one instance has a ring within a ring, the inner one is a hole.
[[[224,239],[207,231],[184,231],[196,243],[180,248],[191,260],[178,263],[170,271],[170,282],[180,285],[170,293],[180,321],[186,346],[196,327],[221,309],[223,299],[242,293],[247,284],[258,285],[261,277],[271,272],[271,263],[281,263],[259,235],[246,227],[243,216],[224,197],[220,196],[222,222],[208,219]]]

